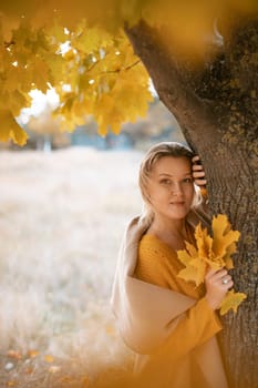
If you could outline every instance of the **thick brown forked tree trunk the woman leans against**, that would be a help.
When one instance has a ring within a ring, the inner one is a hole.
[[[155,89],[200,155],[211,214],[227,214],[241,233],[234,288],[248,298],[223,318],[221,350],[231,388],[258,387],[258,20],[234,25],[224,44],[194,67],[141,22],[126,33]]]

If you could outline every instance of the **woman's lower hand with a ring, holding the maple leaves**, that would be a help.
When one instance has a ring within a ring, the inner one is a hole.
[[[233,287],[231,276],[227,269],[209,269],[205,276],[206,299],[209,306],[215,310],[219,308],[228,289]]]

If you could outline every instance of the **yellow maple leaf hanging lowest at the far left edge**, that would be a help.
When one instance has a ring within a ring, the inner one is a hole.
[[[0,141],[7,142],[8,140],[13,140],[14,143],[19,145],[24,145],[27,143],[28,134],[20,127],[16,119],[9,110],[0,110]]]

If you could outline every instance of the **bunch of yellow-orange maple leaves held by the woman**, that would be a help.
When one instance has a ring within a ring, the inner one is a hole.
[[[196,226],[196,247],[186,243],[186,249],[177,251],[178,259],[185,268],[178,273],[178,277],[188,282],[192,280],[199,286],[204,283],[208,267],[221,269],[234,267],[231,255],[237,251],[236,242],[240,233],[233,231],[226,215],[218,214],[213,217],[213,237],[207,233],[207,228]],[[236,313],[239,304],[246,298],[244,293],[235,293],[234,289],[227,292],[220,305],[220,315],[226,314],[230,308]]]

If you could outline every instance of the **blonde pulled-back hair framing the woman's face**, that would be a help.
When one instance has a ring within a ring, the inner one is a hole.
[[[140,221],[146,225],[149,225],[153,221],[154,213],[148,200],[147,193],[147,184],[149,180],[149,175],[153,171],[154,165],[158,160],[165,156],[172,157],[185,157],[192,163],[192,159],[194,156],[194,152],[190,151],[187,146],[177,143],[177,142],[162,142],[154,146],[152,146],[147,153],[145,154],[138,172],[138,185],[142,193],[142,197],[144,201],[144,210]],[[200,201],[200,191],[198,186],[194,185],[195,195],[192,203],[192,207],[197,206]]]

